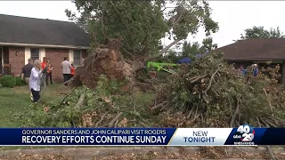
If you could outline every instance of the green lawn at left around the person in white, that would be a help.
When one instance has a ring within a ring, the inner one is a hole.
[[[48,85],[42,93],[42,99],[62,100],[64,93],[57,90],[59,84]],[[20,113],[31,103],[29,99],[28,86],[18,86],[14,88],[0,87],[0,127],[21,127],[21,124],[13,119],[13,115]]]

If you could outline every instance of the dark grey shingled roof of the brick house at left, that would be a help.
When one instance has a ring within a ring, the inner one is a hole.
[[[90,46],[87,33],[69,21],[0,14],[0,44]]]

